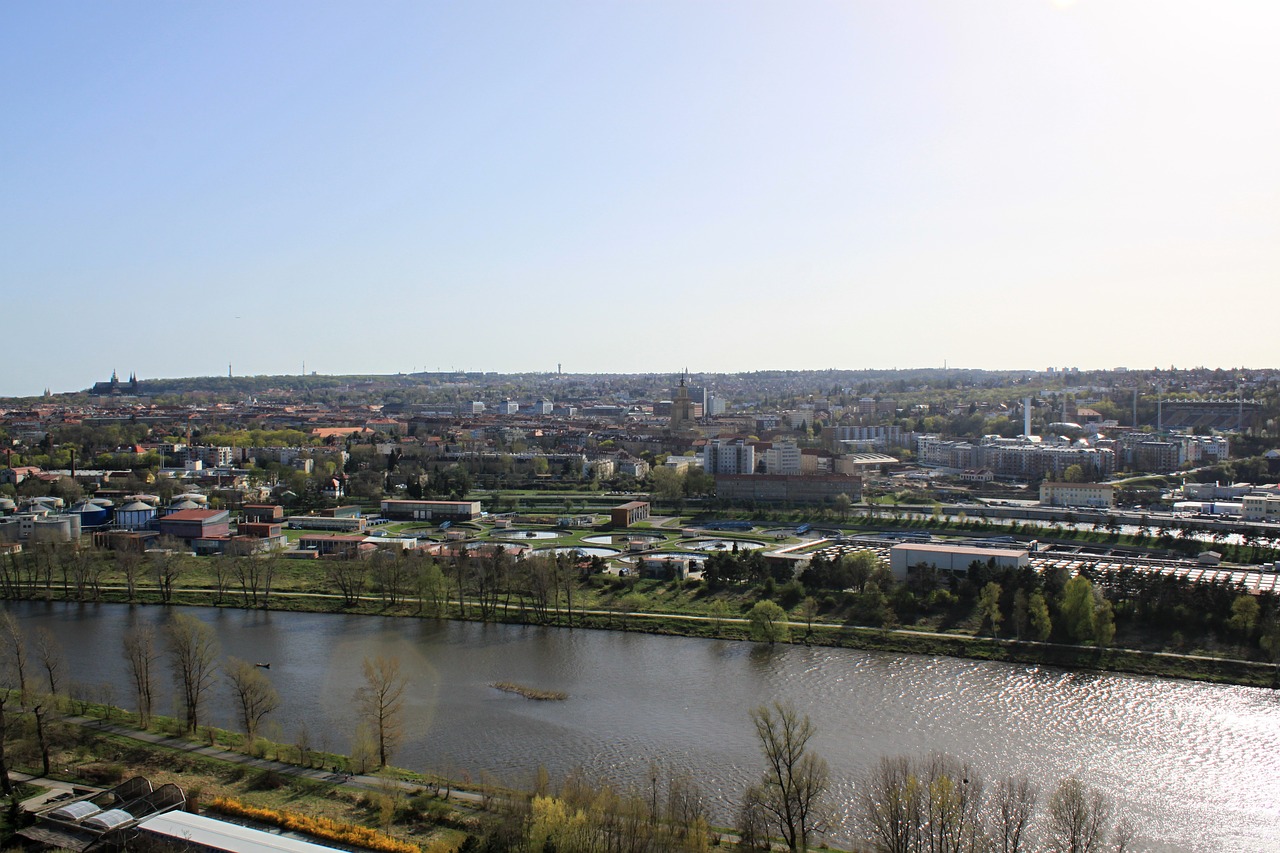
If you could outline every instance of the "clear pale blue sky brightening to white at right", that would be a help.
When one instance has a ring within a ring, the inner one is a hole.
[[[0,394],[1277,366],[1280,3],[0,5]]]

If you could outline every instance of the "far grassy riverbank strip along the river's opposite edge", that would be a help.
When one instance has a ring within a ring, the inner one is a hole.
[[[138,590],[132,603],[160,605],[159,593]],[[244,610],[220,597],[211,589],[180,589],[173,593],[170,605],[192,607],[227,607]],[[74,601],[70,596],[51,592],[47,601]],[[550,611],[535,619],[531,610],[518,603],[492,607],[486,619],[477,619],[477,608],[468,605],[467,612],[458,612],[456,603],[434,608],[416,599],[396,606],[385,605],[378,597],[362,597],[352,607],[343,605],[340,596],[324,593],[271,593],[265,605],[251,610],[288,612],[343,613],[364,616],[390,616],[408,619],[452,619],[462,621],[488,621],[512,625],[541,625],[548,628],[581,628],[594,630],[639,631],[669,637],[696,637],[726,640],[750,640],[749,620],[737,616],[704,616],[681,612],[631,611],[621,608],[594,608]],[[106,588],[100,601],[105,603],[131,603],[124,589]],[[1128,672],[1167,679],[1187,679],[1212,684],[1238,684],[1242,686],[1280,688],[1280,667],[1257,661],[1219,658],[1206,654],[1179,654],[1126,648],[1097,648],[1060,643],[993,639],[965,634],[945,634],[911,629],[860,628],[833,622],[788,622],[790,642],[805,646],[906,654],[945,656],[980,661],[1004,661],[1030,666]]]

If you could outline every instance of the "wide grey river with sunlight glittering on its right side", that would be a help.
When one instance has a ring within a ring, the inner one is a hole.
[[[110,683],[129,704],[118,649],[168,610],[5,603],[32,635],[56,631],[69,679]],[[396,656],[408,676],[407,736],[394,763],[527,786],[582,767],[645,784],[650,763],[689,771],[728,822],[760,771],[748,716],[790,699],[813,717],[850,838],[859,780],[886,754],[942,751],[988,781],[1027,774],[1047,793],[1079,775],[1158,850],[1280,850],[1280,693],[913,654],[668,638],[621,631],[188,608],[224,656],[270,662],[289,740],[346,752],[361,662]],[[493,681],[562,690],[532,702]],[[172,692],[170,692],[172,695]],[[236,727],[220,689],[210,722]],[[172,707],[166,697],[163,708]]]

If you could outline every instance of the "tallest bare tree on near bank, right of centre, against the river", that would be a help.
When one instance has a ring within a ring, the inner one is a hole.
[[[790,703],[751,711],[765,770],[758,786],[760,808],[788,850],[809,849],[809,838],[826,829],[823,798],[831,786],[827,762],[809,752],[815,729]]]

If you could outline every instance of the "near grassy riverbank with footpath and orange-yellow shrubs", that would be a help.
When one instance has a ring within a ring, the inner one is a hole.
[[[105,789],[142,776],[154,784],[178,785],[189,811],[278,826],[339,849],[381,853],[458,853],[481,849],[484,839],[493,836],[509,841],[513,833],[536,831],[527,818],[531,811],[536,816],[538,798],[568,802],[567,794],[545,788],[460,788],[452,780],[394,767],[364,772],[347,756],[302,752],[261,739],[246,751],[234,733],[202,726],[205,736],[196,739],[179,734],[178,722],[165,717],[154,717],[150,729],[141,729],[129,712],[114,706],[86,704],[82,711],[58,720],[65,736],[59,739],[51,763],[61,770],[49,777],[35,776],[35,767],[13,771],[14,781],[20,780],[22,799],[41,793],[32,779],[49,789],[73,784]],[[603,783],[600,790],[612,799],[604,797],[595,811],[617,808],[623,813],[641,802],[637,794],[620,794]],[[47,803],[40,799],[28,803],[32,811],[44,806]],[[713,827],[700,815],[684,822],[669,809],[654,811],[652,817],[645,831],[659,839],[662,849],[691,853],[710,845],[737,847],[731,830]],[[9,843],[15,827],[0,820],[0,840]],[[608,833],[620,830],[611,825]]]

